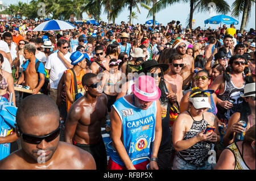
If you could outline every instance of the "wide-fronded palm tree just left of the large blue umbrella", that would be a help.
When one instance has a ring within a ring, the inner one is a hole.
[[[189,3],[190,11],[188,16],[188,26],[192,29],[192,19],[194,12],[207,12],[209,10],[209,3],[213,2],[216,5],[216,12],[221,14],[227,14],[230,11],[230,7],[225,0],[160,0],[155,3],[150,10],[150,14],[152,12],[159,12],[163,9],[166,9],[167,6],[174,5],[175,3]]]

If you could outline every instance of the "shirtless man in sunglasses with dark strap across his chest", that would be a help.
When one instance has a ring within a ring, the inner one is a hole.
[[[109,60],[104,58],[105,52],[101,45],[95,47],[95,54],[97,59],[92,62],[92,65],[90,65],[90,70],[92,70],[94,74],[109,70]]]

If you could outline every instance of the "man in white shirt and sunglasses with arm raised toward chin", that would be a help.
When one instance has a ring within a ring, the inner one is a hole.
[[[57,99],[57,86],[62,74],[65,70],[73,67],[69,58],[71,53],[68,52],[68,41],[60,39],[57,41],[57,48],[59,50],[48,57],[45,65],[49,73],[50,96],[55,101]]]

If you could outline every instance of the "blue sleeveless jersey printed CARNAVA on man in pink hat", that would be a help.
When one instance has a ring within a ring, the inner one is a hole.
[[[133,165],[150,159],[150,145],[155,139],[156,102],[154,101],[147,110],[141,110],[122,97],[113,107],[122,121],[123,145]],[[125,166],[111,143],[108,147],[111,159]]]

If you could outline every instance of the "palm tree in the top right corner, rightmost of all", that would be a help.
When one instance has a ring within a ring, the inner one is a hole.
[[[251,15],[251,6],[253,6],[255,0],[236,0],[232,4],[232,16],[238,17],[242,13],[242,22],[240,27],[240,32],[243,32],[248,19]]]

